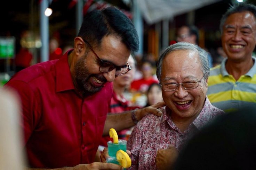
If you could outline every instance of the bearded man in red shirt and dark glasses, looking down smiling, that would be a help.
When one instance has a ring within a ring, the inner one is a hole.
[[[6,84],[21,98],[31,168],[121,169],[92,163],[102,134],[134,126],[148,113],[161,114],[147,107],[107,115],[111,82],[131,69],[127,61],[138,43],[134,25],[120,10],[94,10],[85,16],[73,50],[17,73]]]

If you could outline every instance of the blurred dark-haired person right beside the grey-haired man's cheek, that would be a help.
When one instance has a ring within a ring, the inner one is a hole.
[[[150,84],[149,88],[147,89],[147,106],[151,106],[157,104],[158,102],[163,101],[162,97],[162,89],[159,83],[152,83]]]

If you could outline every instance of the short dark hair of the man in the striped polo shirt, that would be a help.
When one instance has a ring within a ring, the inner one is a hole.
[[[225,12],[225,14],[221,18],[221,23],[219,24],[219,29],[221,30],[221,34],[223,33],[223,25],[226,22],[227,17],[234,13],[240,13],[249,11],[253,13],[255,19],[256,19],[256,7],[249,3],[237,3],[234,5],[231,5],[230,8]]]

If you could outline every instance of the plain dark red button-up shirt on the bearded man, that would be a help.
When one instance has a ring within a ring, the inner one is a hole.
[[[21,125],[31,167],[72,167],[94,161],[112,83],[81,98],[74,91],[66,53],[59,60],[18,72],[6,86],[14,88],[22,101]]]

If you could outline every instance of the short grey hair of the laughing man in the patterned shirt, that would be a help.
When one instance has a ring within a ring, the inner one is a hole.
[[[205,75],[205,80],[208,79],[210,74],[209,62],[208,62],[208,53],[200,48],[198,45],[194,45],[191,43],[179,42],[173,45],[168,46],[165,51],[160,55],[158,63],[157,63],[157,78],[161,83],[161,71],[162,71],[162,64],[165,57],[174,51],[178,50],[187,50],[196,52],[199,55],[199,59],[201,62],[201,70],[203,75]],[[170,63],[171,64],[171,63]]]

